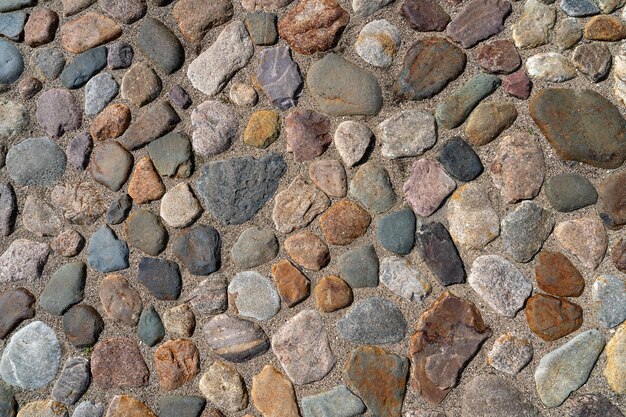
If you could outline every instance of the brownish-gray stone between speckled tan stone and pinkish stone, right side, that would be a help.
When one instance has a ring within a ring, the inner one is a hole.
[[[517,262],[528,262],[543,246],[554,227],[554,215],[532,201],[523,201],[502,219],[504,248]]]

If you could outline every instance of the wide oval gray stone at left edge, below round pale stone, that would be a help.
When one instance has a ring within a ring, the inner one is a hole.
[[[29,138],[7,153],[9,176],[20,185],[45,187],[57,182],[65,172],[65,152],[52,140]]]

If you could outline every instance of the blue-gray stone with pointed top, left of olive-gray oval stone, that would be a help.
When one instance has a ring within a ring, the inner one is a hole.
[[[113,272],[128,268],[128,245],[119,240],[113,230],[102,225],[89,239],[87,247],[89,266],[99,272]]]

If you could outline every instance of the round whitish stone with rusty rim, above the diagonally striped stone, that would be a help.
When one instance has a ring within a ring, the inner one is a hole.
[[[280,296],[271,280],[256,271],[236,274],[228,285],[237,313],[255,320],[269,320],[280,310]]]

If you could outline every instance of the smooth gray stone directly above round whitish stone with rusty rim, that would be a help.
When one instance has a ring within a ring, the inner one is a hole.
[[[253,226],[244,230],[233,245],[230,256],[244,269],[254,268],[271,261],[278,255],[276,235],[269,229]]]

